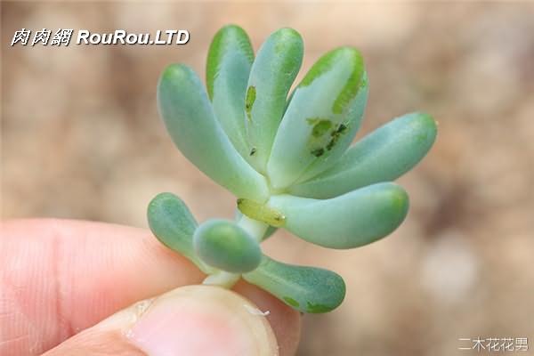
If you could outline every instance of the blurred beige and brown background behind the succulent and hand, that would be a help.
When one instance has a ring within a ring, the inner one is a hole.
[[[335,312],[303,317],[299,355],[472,354],[458,338],[477,336],[529,337],[534,350],[534,3],[4,2],[2,218],[146,227],[161,191],[199,221],[230,218],[235,198],[174,148],[155,102],[167,64],[204,77],[211,38],[230,22],[255,50],[277,28],[298,30],[299,78],[333,47],[358,47],[370,96],[357,139],[414,110],[440,124],[400,179],[411,209],[392,236],[350,251],[283,231],[266,243],[347,282]],[[190,42],[11,47],[20,28],[185,28]]]

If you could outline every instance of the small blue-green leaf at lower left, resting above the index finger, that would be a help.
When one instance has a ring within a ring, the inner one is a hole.
[[[162,244],[187,257],[201,271],[210,271],[194,251],[197,222],[181,198],[171,193],[158,194],[150,201],[147,217],[150,230]]]

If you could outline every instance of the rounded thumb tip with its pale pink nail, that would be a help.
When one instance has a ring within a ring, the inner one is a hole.
[[[223,287],[174,289],[154,300],[126,335],[150,356],[279,354],[255,304]]]

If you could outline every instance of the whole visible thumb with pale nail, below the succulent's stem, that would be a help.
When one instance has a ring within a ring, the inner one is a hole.
[[[278,355],[255,304],[221,287],[180,287],[117,312],[46,352],[60,355]]]

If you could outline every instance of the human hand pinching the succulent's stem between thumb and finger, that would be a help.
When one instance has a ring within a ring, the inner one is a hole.
[[[150,231],[36,219],[0,232],[4,356],[295,353],[297,312],[244,282],[190,286],[201,272]]]

